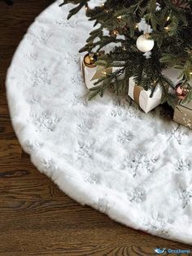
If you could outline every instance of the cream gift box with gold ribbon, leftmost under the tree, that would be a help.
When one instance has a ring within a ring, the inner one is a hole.
[[[89,68],[84,63],[84,57],[81,56],[81,72],[83,74],[85,85],[88,89],[91,89],[95,86],[99,86],[99,84],[94,85],[95,82],[98,82],[99,78],[106,77],[106,73],[113,73],[119,70],[118,67],[105,68],[103,66],[95,66],[93,68]],[[119,79],[122,79],[124,75],[121,75]]]

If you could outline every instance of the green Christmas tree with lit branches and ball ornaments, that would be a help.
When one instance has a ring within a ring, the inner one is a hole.
[[[64,0],[74,3],[68,19],[82,7],[95,29],[89,33],[86,45],[97,58],[97,64],[120,67],[116,72],[99,79],[91,90],[90,99],[111,89],[117,95],[128,90],[129,77],[145,90],[156,86],[164,90],[164,101],[169,104],[175,97],[170,95],[172,81],[162,74],[165,68],[180,70],[181,88],[187,91],[186,101],[192,99],[192,1],[186,0]],[[63,5],[62,4],[62,5]],[[94,5],[93,5],[94,4]],[[103,49],[110,46],[110,51]],[[124,78],[118,79],[118,77]],[[101,83],[102,82],[102,83]]]

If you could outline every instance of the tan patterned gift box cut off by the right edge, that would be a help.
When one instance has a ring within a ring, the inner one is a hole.
[[[178,104],[174,110],[174,121],[182,126],[192,129],[192,100],[190,103],[183,104],[182,101]]]

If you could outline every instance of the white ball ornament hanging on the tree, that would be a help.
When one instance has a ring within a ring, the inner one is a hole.
[[[151,51],[154,47],[154,40],[150,39],[149,34],[143,34],[137,38],[137,49],[142,52]]]

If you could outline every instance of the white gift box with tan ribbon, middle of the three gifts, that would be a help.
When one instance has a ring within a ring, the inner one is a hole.
[[[151,90],[144,90],[142,86],[137,86],[133,77],[129,78],[128,95],[142,108],[145,113],[150,112],[153,108],[161,103],[162,90],[156,86],[153,97],[151,98]]]

